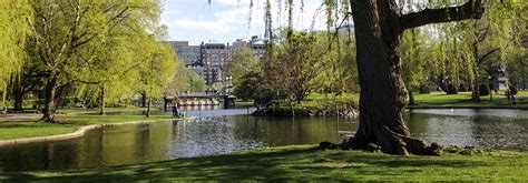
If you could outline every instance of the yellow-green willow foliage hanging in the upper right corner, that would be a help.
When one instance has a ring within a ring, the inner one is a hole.
[[[508,50],[521,41],[522,35],[517,33],[526,28],[526,20],[524,20],[526,18],[519,16],[526,11],[526,6],[522,3],[490,1],[485,6],[487,13],[481,20],[460,22],[457,30],[461,35],[461,48],[458,50],[460,50],[461,60],[466,63],[466,72],[470,79],[472,101],[480,101],[479,88],[482,80],[488,80],[488,75],[495,74],[487,70],[490,65],[507,68],[507,61],[510,60]],[[508,69],[506,71],[506,74],[509,74]],[[482,74],[483,72],[488,73]]]

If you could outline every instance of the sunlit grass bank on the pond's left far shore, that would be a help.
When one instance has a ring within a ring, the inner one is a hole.
[[[133,121],[159,121],[169,120],[169,115],[96,115],[96,114],[58,114],[56,120],[61,124],[48,124],[43,122],[1,122],[0,140],[12,140],[21,138],[50,136],[75,132],[84,125],[123,123]]]

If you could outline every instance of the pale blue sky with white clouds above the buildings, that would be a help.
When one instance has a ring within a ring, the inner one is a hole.
[[[189,41],[190,44],[204,42],[233,42],[236,39],[251,39],[264,35],[264,0],[164,0],[162,23],[168,27],[168,41]],[[286,24],[284,10],[277,10],[272,1],[273,24]],[[305,0],[301,13],[300,4],[294,3],[294,27],[299,30],[324,29],[324,12],[317,10],[321,0]],[[252,21],[250,23],[250,12]],[[283,14],[283,16],[280,16]],[[314,17],[314,14],[316,17]]]

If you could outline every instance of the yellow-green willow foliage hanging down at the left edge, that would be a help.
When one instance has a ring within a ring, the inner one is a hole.
[[[26,19],[31,16],[31,7],[27,0],[0,1],[0,93],[2,105],[6,105],[8,83],[18,80],[26,60],[26,39],[29,26]]]

